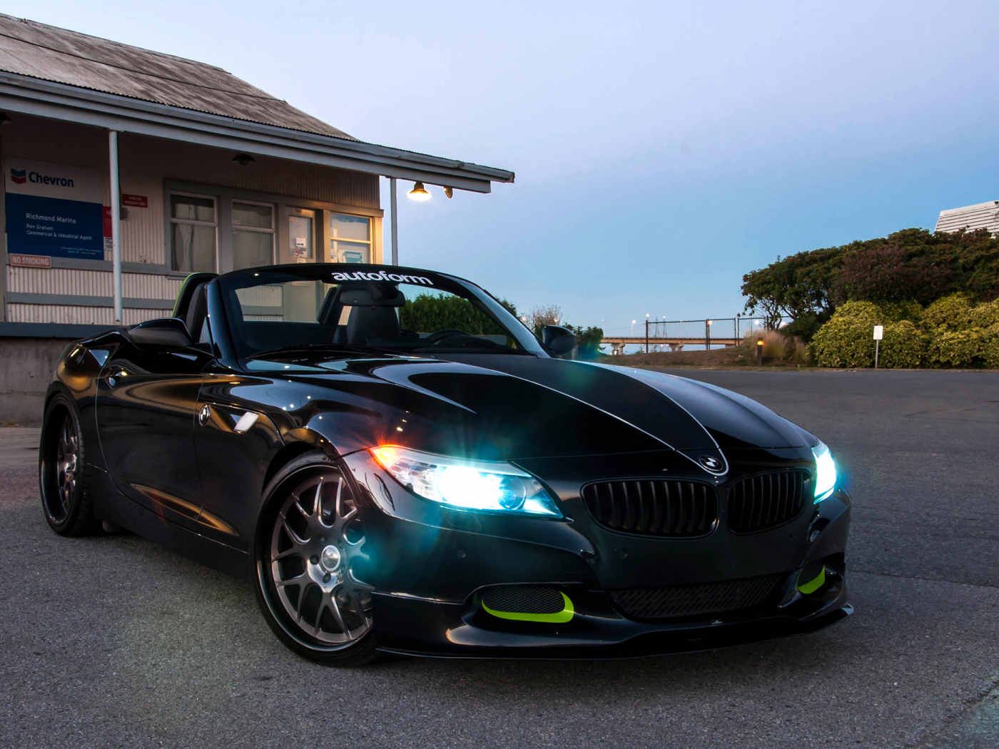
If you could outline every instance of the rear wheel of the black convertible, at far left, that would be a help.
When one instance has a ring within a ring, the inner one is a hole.
[[[42,510],[59,535],[101,532],[100,520],[94,517],[86,450],[76,404],[60,392],[45,408],[38,449]]]

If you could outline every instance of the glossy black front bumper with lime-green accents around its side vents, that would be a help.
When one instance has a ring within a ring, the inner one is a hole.
[[[647,463],[648,457],[640,460]],[[618,472],[627,469],[619,457],[614,461]],[[365,532],[373,549],[367,579],[377,591],[375,635],[385,651],[627,658],[814,632],[853,611],[845,581],[850,499],[842,489],[768,531],[735,535],[722,517],[704,538],[663,539],[597,526],[577,494],[560,487],[565,521],[481,515],[415,497],[367,451],[345,462],[362,492],[383,510],[365,520]],[[802,570],[816,565],[825,570],[824,582],[800,592]],[[756,575],[778,581],[749,608],[661,621],[629,618],[607,592]],[[571,599],[574,613],[562,622],[511,621],[488,613],[483,592],[507,585],[556,587]]]

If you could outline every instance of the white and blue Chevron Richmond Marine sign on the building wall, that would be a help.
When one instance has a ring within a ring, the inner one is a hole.
[[[98,170],[11,157],[4,180],[8,253],[104,260]]]

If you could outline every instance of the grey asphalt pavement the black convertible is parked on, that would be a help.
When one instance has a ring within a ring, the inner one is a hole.
[[[856,614],[610,662],[299,659],[247,583],[46,525],[0,429],[0,746],[999,746],[999,374],[684,372],[821,436],[854,497]]]

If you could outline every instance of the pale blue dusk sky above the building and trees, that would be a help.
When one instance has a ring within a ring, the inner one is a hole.
[[[742,274],[778,255],[999,200],[995,2],[301,9],[4,12],[219,65],[367,141],[515,171],[492,195],[401,200],[402,262],[607,333],[730,317]]]

